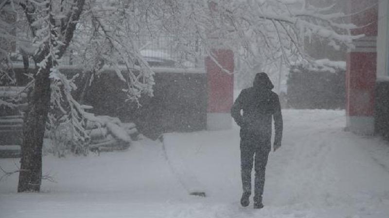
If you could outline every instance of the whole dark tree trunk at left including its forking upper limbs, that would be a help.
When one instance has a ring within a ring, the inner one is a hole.
[[[35,75],[35,85],[33,91],[30,93],[28,110],[24,117],[23,126],[23,143],[21,146],[21,159],[20,159],[20,172],[19,172],[19,184],[18,192],[36,191],[40,190],[42,182],[42,147],[43,137],[46,130],[46,119],[50,109],[50,71],[53,68],[53,59],[49,55],[51,53],[51,47],[55,47],[57,52],[55,55],[57,59],[60,59],[65,53],[66,48],[69,46],[71,39],[73,38],[74,30],[76,29],[77,21],[83,11],[85,0],[74,0],[76,7],[72,6],[72,13],[69,13],[67,17],[62,18],[60,26],[55,26],[55,20],[52,16],[52,7],[50,3],[45,3],[46,8],[41,8],[42,5],[38,5],[36,2],[27,6],[25,3],[20,2],[20,6],[23,8],[26,14],[29,26],[32,30],[33,36],[36,36],[36,25],[34,23],[35,13],[42,13],[46,11],[49,16],[48,21],[52,27],[58,27],[57,30],[61,31],[63,36],[62,42],[58,45],[56,39],[50,39],[45,44],[45,47],[38,49],[34,57],[35,63],[40,63],[47,58],[46,67],[40,70]],[[61,5],[62,5],[61,1]],[[36,8],[35,6],[38,6]],[[40,8],[40,9],[39,9]],[[44,13],[46,13],[44,12]],[[60,28],[59,28],[60,27]],[[55,28],[54,28],[55,29]],[[50,34],[58,35],[55,30],[52,29]],[[51,44],[49,46],[49,44]]]

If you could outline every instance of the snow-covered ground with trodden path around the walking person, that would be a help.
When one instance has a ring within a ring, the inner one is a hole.
[[[265,207],[242,208],[238,127],[172,133],[124,152],[44,157],[41,193],[0,182],[0,218],[388,218],[389,145],[344,132],[344,111],[283,110]],[[0,159],[5,170],[18,159]],[[192,196],[204,191],[207,197]]]

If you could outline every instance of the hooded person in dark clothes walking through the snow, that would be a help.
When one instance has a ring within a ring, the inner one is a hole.
[[[251,171],[254,162],[254,208],[262,208],[265,168],[271,150],[271,119],[274,118],[274,151],[281,146],[283,118],[278,95],[267,74],[257,73],[253,86],[242,90],[231,108],[231,116],[240,128],[240,152],[243,194],[242,206],[251,195]],[[241,110],[243,114],[241,114]],[[255,157],[254,157],[255,156]]]

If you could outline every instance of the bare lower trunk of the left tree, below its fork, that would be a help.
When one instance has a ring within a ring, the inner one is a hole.
[[[42,145],[50,108],[49,75],[53,67],[51,58],[46,63],[46,68],[35,77],[24,117],[18,192],[39,192],[42,182]]]

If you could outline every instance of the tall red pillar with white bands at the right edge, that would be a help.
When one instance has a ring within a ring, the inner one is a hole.
[[[347,127],[360,134],[374,132],[374,85],[377,66],[378,0],[349,0],[351,22],[361,27],[353,35],[355,49],[347,53],[346,116]]]

